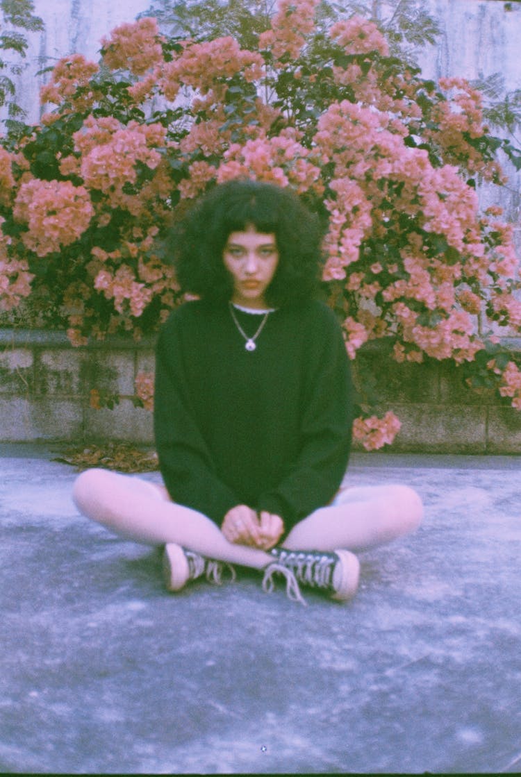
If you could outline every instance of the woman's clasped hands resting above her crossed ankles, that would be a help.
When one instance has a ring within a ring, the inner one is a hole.
[[[226,513],[221,531],[228,542],[270,550],[281,538],[284,522],[280,516],[266,510],[257,514],[246,504],[238,504]]]

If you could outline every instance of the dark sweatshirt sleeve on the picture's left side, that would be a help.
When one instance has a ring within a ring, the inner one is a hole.
[[[216,476],[212,456],[194,418],[180,334],[175,326],[163,328],[156,348],[154,434],[159,469],[170,497],[220,525],[239,501]]]

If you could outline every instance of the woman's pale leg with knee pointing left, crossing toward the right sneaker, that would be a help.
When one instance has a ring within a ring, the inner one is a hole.
[[[211,559],[256,569],[273,560],[263,550],[228,542],[208,517],[174,503],[164,486],[139,478],[88,469],[76,479],[73,498],[86,517],[135,542],[175,542]]]

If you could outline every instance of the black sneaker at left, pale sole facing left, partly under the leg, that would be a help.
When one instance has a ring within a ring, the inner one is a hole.
[[[235,580],[236,572],[231,564],[207,559],[199,553],[176,545],[175,542],[168,542],[165,545],[163,580],[168,591],[180,591],[190,580],[196,580],[201,575],[206,575],[210,583],[221,585],[225,571],[229,572],[231,580]]]

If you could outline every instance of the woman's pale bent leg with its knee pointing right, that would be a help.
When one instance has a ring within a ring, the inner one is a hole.
[[[359,551],[418,528],[421,499],[408,486],[359,486],[337,494],[300,521],[283,543],[288,550]]]

